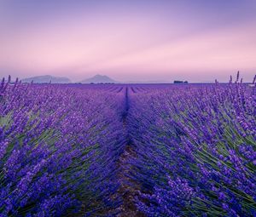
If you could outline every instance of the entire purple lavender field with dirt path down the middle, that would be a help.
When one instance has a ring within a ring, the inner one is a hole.
[[[256,87],[0,86],[0,216],[256,216]]]

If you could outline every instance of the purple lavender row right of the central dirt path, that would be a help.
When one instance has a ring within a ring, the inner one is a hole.
[[[130,178],[146,216],[256,215],[255,86],[130,91]]]

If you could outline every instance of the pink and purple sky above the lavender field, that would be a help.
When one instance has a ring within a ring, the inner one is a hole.
[[[0,76],[208,82],[256,71],[253,0],[0,0]]]

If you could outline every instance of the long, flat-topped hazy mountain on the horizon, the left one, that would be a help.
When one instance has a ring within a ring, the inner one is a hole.
[[[71,83],[70,79],[67,77],[53,77],[53,76],[37,76],[37,77],[27,77],[21,79],[22,83]]]

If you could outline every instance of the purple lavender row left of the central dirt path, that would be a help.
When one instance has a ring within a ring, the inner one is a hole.
[[[3,80],[0,216],[98,215],[118,207],[124,94]]]

